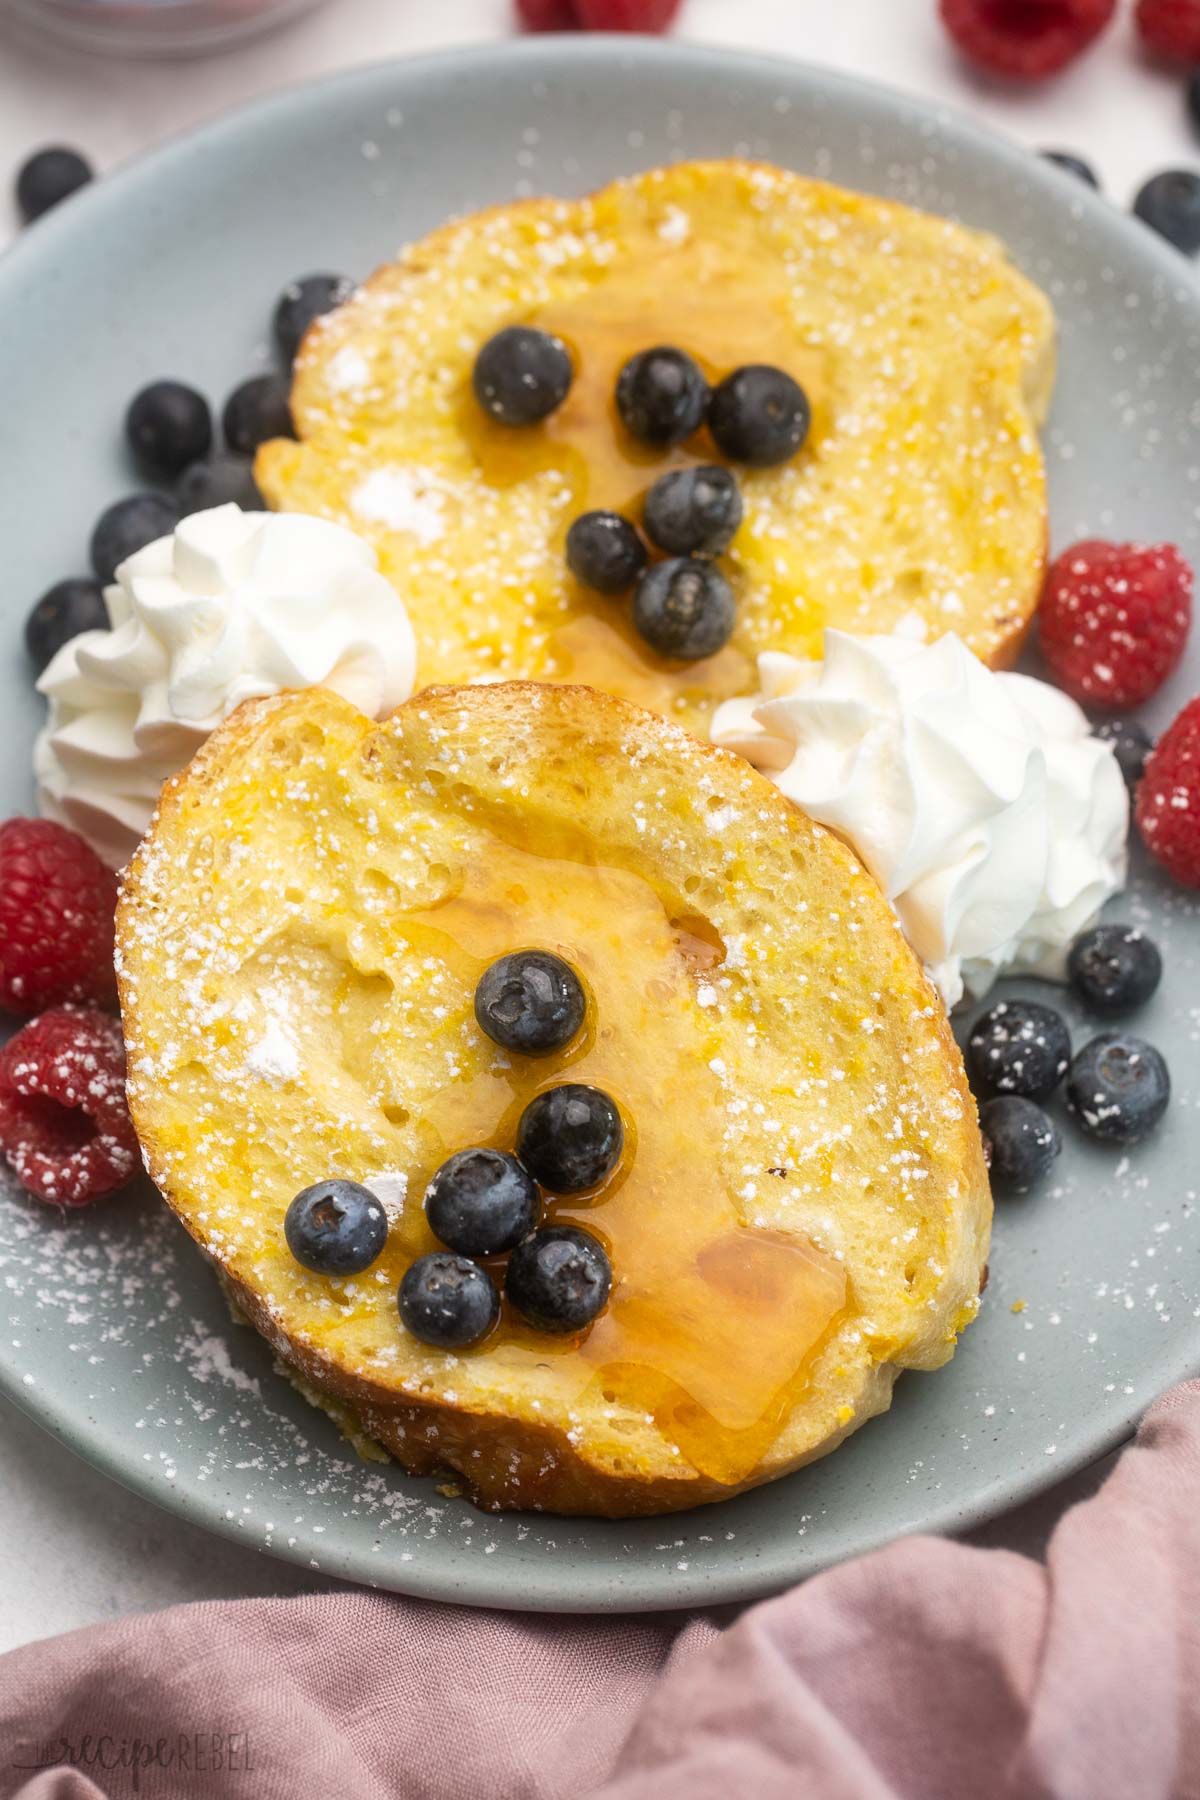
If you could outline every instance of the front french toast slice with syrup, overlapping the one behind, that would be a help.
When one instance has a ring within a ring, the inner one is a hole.
[[[588,1019],[522,1058],[473,1015],[518,947]],[[376,725],[246,702],[167,783],[119,976],[148,1168],[309,1390],[486,1507],[653,1514],[786,1474],[937,1368],[991,1201],[945,1010],[851,851],[730,752],[587,688],[434,689]],[[399,1323],[428,1177],[534,1093],[612,1093],[626,1154],[549,1202],[606,1244],[581,1337]],[[374,1188],[365,1274],[288,1253],[291,1197]]]

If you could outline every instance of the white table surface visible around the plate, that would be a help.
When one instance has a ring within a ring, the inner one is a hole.
[[[76,59],[0,36],[0,245],[16,230],[4,189],[38,144],[77,144],[108,169],[284,83],[495,38],[509,25],[509,0],[327,0],[228,56],[171,65]],[[689,0],[680,34],[954,101],[1031,146],[1083,153],[1121,202],[1159,167],[1200,166],[1182,83],[1139,56],[1128,18],[1065,77],[1027,92],[968,77],[941,34],[936,0]],[[1036,1553],[1060,1510],[1094,1485],[1094,1474],[1067,1483],[977,1541]],[[0,1546],[0,1651],[180,1600],[335,1586],[126,1494],[4,1402]]]

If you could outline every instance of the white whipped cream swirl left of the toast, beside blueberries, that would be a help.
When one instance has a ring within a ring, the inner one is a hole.
[[[416,646],[369,544],[302,513],[216,506],[148,544],[104,589],[112,630],[63,644],[38,688],[38,801],[128,862],[184,769],[243,700],[333,688],[378,718],[407,700]]]

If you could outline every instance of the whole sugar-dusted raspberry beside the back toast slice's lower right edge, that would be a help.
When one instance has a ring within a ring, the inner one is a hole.
[[[1042,653],[1087,706],[1141,706],[1178,664],[1191,567],[1171,544],[1076,544],[1045,581]]]

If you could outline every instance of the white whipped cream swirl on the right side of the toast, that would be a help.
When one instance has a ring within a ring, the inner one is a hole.
[[[961,639],[826,632],[766,653],[712,738],[858,853],[946,1006],[1002,970],[1063,979],[1124,884],[1128,794],[1065,693],[997,675]]]

